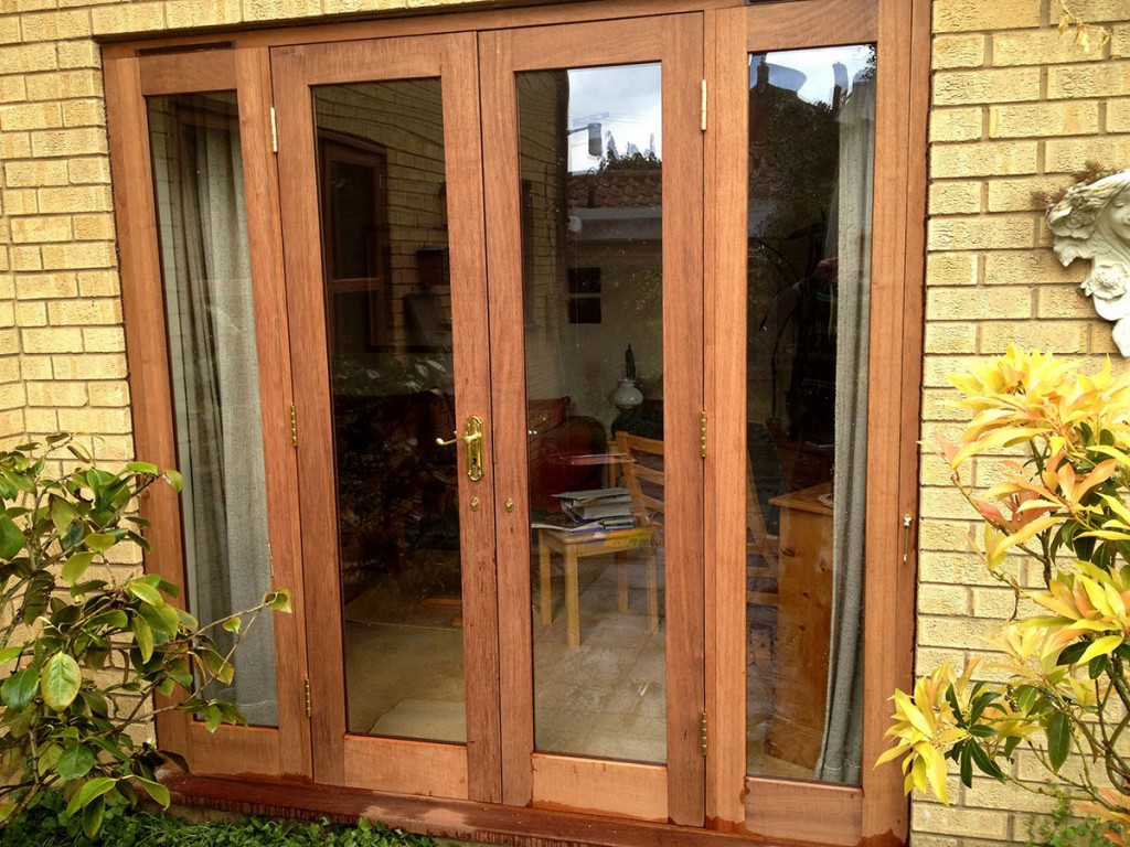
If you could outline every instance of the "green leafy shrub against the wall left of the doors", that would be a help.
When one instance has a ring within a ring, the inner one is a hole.
[[[46,442],[0,451],[0,826],[59,788],[93,838],[138,789],[168,804],[155,771],[179,758],[134,741],[154,695],[169,698],[156,711],[191,713],[209,730],[245,723],[236,706],[201,692],[231,683],[240,635],[266,609],[289,611],[290,600],[270,592],[200,626],[168,602],[175,586],[123,576],[111,561],[150,547],[138,498],[162,480],[180,490],[180,474],[145,462],[114,473],[68,435]],[[72,470],[56,472],[63,456]],[[217,627],[236,636],[225,653],[209,637]]]

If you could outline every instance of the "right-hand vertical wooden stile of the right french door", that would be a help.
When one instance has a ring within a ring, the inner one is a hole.
[[[703,20],[663,30],[663,442],[668,817],[705,819],[703,593]]]

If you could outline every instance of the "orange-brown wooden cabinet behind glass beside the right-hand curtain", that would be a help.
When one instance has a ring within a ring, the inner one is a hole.
[[[815,768],[824,739],[832,631],[832,508],[823,482],[774,497],[781,507],[774,708],[765,749]]]

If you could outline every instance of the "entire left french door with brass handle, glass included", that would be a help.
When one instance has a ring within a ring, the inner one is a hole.
[[[437,35],[282,47],[272,71],[299,399],[313,775],[497,801],[475,56],[473,35]],[[438,278],[421,279],[429,262]],[[483,434],[458,440],[472,420]],[[397,643],[408,629],[427,638]],[[440,698],[434,687],[412,688],[429,679],[454,690]],[[432,723],[421,725],[428,708]]]

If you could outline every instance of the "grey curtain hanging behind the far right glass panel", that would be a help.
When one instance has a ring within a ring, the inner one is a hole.
[[[859,783],[862,760],[863,527],[870,342],[875,81],[857,81],[840,113],[838,297],[832,637],[824,746],[816,777]]]

